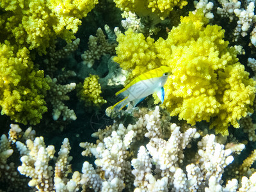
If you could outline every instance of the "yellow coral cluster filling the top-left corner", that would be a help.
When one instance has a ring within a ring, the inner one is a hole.
[[[60,36],[70,42],[75,38],[82,17],[97,4],[97,0],[3,0],[0,8],[1,38],[12,44],[37,48],[45,53],[52,39]],[[2,41],[3,42],[3,41]]]

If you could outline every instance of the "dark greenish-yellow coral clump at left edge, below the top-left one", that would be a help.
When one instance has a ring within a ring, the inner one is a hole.
[[[0,109],[15,122],[38,124],[47,111],[44,95],[49,90],[42,70],[35,70],[26,47],[0,44]]]

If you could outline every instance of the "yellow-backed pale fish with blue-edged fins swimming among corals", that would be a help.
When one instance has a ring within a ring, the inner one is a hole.
[[[155,68],[132,80],[127,84],[125,88],[116,93],[124,97],[124,99],[117,102],[111,109],[121,110],[131,101],[134,103],[134,107],[145,99],[148,95],[157,93],[157,96],[163,103],[164,101],[164,84],[166,83],[168,76],[171,74],[171,68],[161,66]]]

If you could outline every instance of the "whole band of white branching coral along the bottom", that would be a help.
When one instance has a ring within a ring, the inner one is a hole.
[[[236,152],[241,152],[244,145],[225,149],[225,145],[216,142],[213,134],[200,138],[195,128],[187,127],[181,132],[176,124],[168,122],[164,125],[159,106],[154,111],[140,110],[137,113],[140,117],[136,124],[125,127],[115,123],[93,134],[99,138],[97,144],[80,143],[85,148],[83,155],[92,154],[96,158],[96,168],[84,161],[82,173],[70,170],[72,157],[68,155],[71,148],[67,138],[55,158],[54,146],[45,146],[42,136],[30,140],[29,134],[22,133],[18,125],[11,125],[10,138],[11,135],[17,140],[27,138],[26,145],[12,140],[22,156],[18,170],[31,178],[29,186],[38,191],[77,191],[81,188],[83,191],[132,191],[134,187],[134,191],[250,191],[256,188],[255,173],[252,172],[247,173],[247,177],[241,175],[241,181],[234,178],[223,184],[221,179],[224,168],[234,161]],[[146,144],[138,145],[138,141],[143,140]],[[197,151],[191,148],[195,145],[193,140],[197,143]],[[1,163],[13,153],[9,142],[5,135],[1,137]],[[186,152],[187,148],[189,151]],[[186,156],[192,158],[186,159]],[[255,152],[241,165],[243,170],[253,161]],[[68,179],[67,173],[71,173],[72,178]]]

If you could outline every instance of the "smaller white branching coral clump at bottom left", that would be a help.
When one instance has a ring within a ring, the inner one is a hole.
[[[34,141],[27,140],[26,145],[18,141],[16,145],[19,150],[25,151],[20,158],[22,164],[18,170],[22,175],[31,178],[28,183],[30,187],[35,187],[38,191],[52,191],[53,189],[74,191],[77,172],[74,172],[72,179],[65,178],[65,174],[68,173],[68,164],[72,160],[72,157],[68,156],[70,145],[67,138],[62,142],[54,169],[49,163],[54,158],[55,148],[53,145],[46,147],[43,137],[37,137]]]

